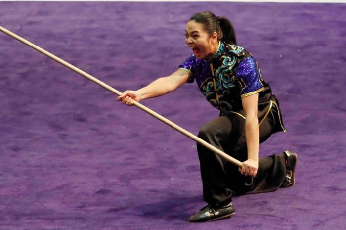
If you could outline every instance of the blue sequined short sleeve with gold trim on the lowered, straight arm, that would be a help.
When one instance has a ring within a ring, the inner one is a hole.
[[[264,90],[259,78],[256,60],[253,57],[243,59],[235,70],[235,77],[242,81],[241,97],[250,96]]]

